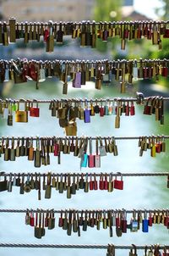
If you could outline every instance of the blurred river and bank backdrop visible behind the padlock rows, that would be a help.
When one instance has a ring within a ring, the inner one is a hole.
[[[79,20],[147,20],[147,19],[169,19],[168,0],[4,0],[0,1],[0,16],[2,20],[15,17],[17,21],[79,21]],[[22,40],[8,47],[0,46],[0,58],[34,58],[34,59],[117,59],[117,58],[168,58],[168,40],[162,41],[162,50],[157,46],[152,46],[151,42],[140,41],[128,42],[126,50],[120,49],[120,40],[113,38],[109,42],[98,40],[97,48],[79,47],[78,40],[66,37],[63,46],[56,45],[54,53],[46,53],[43,42],[29,42],[25,45]],[[46,79],[41,83],[40,89],[35,89],[35,82],[14,85],[12,83],[0,84],[1,97],[5,98],[37,98],[52,99],[61,97],[121,97],[119,85],[114,82],[110,86],[102,86],[102,90],[96,91],[93,82],[88,82],[82,89],[74,89],[71,83],[68,85],[68,95],[62,94],[62,83],[56,79]],[[145,96],[167,96],[168,81],[134,81],[134,86],[127,89],[126,97],[134,97],[135,92],[144,92]],[[124,97],[124,95],[122,95]],[[7,120],[0,117],[0,136],[64,136],[63,129],[59,127],[58,120],[51,116],[51,112],[46,104],[40,105],[40,118],[31,118],[29,123],[15,123],[12,127],[7,126]],[[143,115],[143,107],[136,107],[136,114],[133,117],[123,116],[120,129],[114,128],[115,116],[98,116],[92,118],[90,124],[85,124],[81,120],[78,122],[78,136],[141,136],[151,134],[169,134],[169,113],[165,103],[165,125],[160,126],[155,122],[154,116]],[[106,125],[105,125],[106,124]],[[108,155],[101,158],[101,169],[95,172],[155,172],[167,171],[169,163],[169,147],[166,141],[166,153],[161,153],[156,158],[150,157],[150,152],[139,157],[139,147],[137,141],[117,141],[118,156]],[[90,171],[79,168],[79,159],[74,159],[72,155],[62,156],[62,164],[58,165],[54,158],[51,159],[50,166],[42,166],[41,170],[34,168],[31,162],[19,158],[15,162],[4,162],[0,158],[1,170],[6,172],[74,172]],[[12,193],[1,192],[0,207],[2,209],[156,209],[168,207],[168,189],[166,188],[166,178],[124,178],[124,191],[107,192],[78,192],[73,198],[67,199],[65,194],[58,194],[52,191],[50,200],[37,200],[36,192],[32,191],[25,195],[19,194],[17,187]],[[56,216],[58,220],[58,215]],[[129,217],[129,216],[128,216]],[[116,237],[115,231],[112,238],[109,237],[108,230],[96,231],[89,229],[81,232],[81,237],[76,234],[68,237],[66,232],[56,227],[52,231],[46,231],[46,236],[37,241],[34,231],[30,226],[25,225],[25,214],[1,214],[0,215],[0,241],[1,242],[31,242],[31,243],[73,243],[73,244],[107,244],[118,245],[135,244],[167,244],[168,231],[163,225],[154,225],[149,233],[129,232],[123,237]],[[57,221],[56,221],[57,226]],[[1,256],[30,256],[35,255],[106,255],[104,250],[65,250],[65,249],[34,249],[34,248],[0,248]],[[117,251],[117,255],[128,254],[127,251]],[[143,251],[139,252],[143,254]]]

